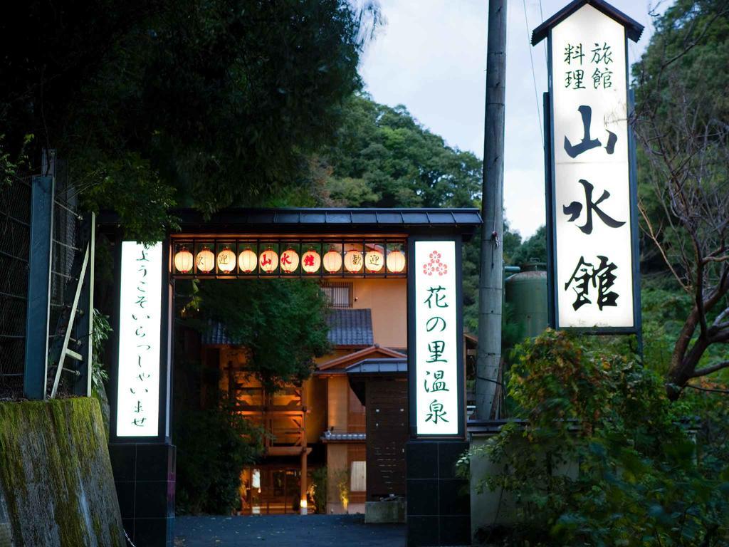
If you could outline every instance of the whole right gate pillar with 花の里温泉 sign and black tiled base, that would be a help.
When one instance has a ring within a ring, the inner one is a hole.
[[[471,544],[461,236],[408,238],[408,547]]]

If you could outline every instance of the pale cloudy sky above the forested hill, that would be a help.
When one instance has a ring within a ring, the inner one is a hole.
[[[379,103],[404,104],[448,145],[483,158],[488,0],[379,3],[385,24],[367,45],[360,65],[367,92]],[[531,47],[531,31],[567,3],[507,0],[504,216],[525,238],[545,223],[541,117],[547,41]],[[649,10],[655,0],[612,4],[645,26],[637,44],[628,40],[632,63],[652,34]]]

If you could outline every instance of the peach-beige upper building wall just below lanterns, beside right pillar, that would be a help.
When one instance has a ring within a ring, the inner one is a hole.
[[[408,280],[353,279],[355,309],[372,310],[375,344],[408,346]]]

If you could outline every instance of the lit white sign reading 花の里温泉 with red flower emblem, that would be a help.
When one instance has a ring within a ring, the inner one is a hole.
[[[415,241],[416,435],[459,435],[461,342],[456,241]],[[413,326],[410,326],[413,328]]]

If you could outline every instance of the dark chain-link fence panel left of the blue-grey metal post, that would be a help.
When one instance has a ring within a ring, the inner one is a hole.
[[[23,395],[30,179],[0,189],[0,399]]]

